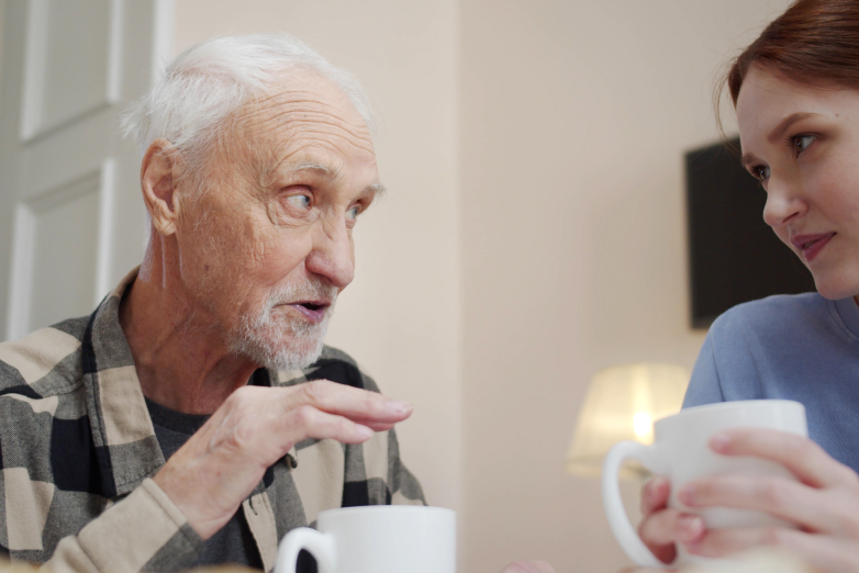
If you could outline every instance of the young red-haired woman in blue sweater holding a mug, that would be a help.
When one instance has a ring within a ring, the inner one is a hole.
[[[765,221],[812,271],[817,293],[773,296],[719,317],[684,406],[789,398],[811,440],[763,430],[714,437],[728,456],[758,456],[799,482],[716,476],[684,484],[691,507],[768,512],[795,529],[707,531],[666,508],[670,484],[643,494],[642,539],[666,562],[677,543],[718,557],[778,546],[824,572],[859,571],[859,0],[799,0],[733,64],[743,164],[767,193]]]

